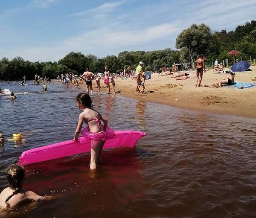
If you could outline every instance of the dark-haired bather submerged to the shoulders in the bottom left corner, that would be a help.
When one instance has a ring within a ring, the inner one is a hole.
[[[6,172],[9,187],[0,193],[0,208],[12,208],[25,201],[40,201],[52,198],[52,196],[40,196],[35,192],[22,189],[25,171],[22,166],[13,163]]]

